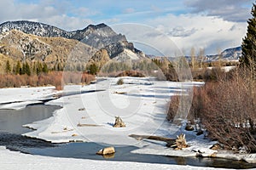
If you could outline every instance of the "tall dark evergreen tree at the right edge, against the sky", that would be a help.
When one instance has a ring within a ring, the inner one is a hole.
[[[247,66],[253,66],[255,70],[255,62],[256,62],[256,5],[253,4],[253,8],[251,11],[253,18],[247,20],[247,35],[243,38],[243,42],[241,44],[241,54],[242,57],[240,59],[241,64]]]

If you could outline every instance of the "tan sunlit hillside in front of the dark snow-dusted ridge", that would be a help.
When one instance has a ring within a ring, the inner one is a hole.
[[[17,30],[0,34],[0,54],[15,60],[44,61],[52,67],[57,63],[87,62],[96,51],[85,43],[64,37],[38,37]]]

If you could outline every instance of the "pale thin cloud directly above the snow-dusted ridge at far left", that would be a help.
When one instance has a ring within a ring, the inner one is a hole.
[[[68,3],[55,1],[42,1],[40,3],[16,3],[14,0],[0,1],[0,22],[7,20],[32,20],[43,22],[52,26],[60,27],[67,31],[83,29],[84,27],[94,24],[93,20],[88,18],[81,19],[79,17],[68,16]],[[79,14],[91,15],[96,11],[86,8],[79,8]],[[80,15],[80,16],[81,16]]]

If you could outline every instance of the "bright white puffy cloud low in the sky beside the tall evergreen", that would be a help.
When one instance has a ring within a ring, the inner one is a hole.
[[[179,48],[183,48],[187,54],[192,47],[205,48],[207,54],[218,53],[219,48],[231,48],[241,45],[241,39],[245,36],[247,23],[236,23],[220,18],[203,15],[169,15],[158,20],[151,20],[156,26],[161,25],[162,32],[168,32],[182,25],[182,30],[192,31],[187,37],[174,37],[172,40]],[[163,25],[163,23],[165,23]],[[194,30],[194,31],[193,31]]]

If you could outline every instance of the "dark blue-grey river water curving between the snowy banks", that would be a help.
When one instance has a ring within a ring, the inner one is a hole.
[[[103,157],[96,155],[97,150],[104,146],[96,143],[68,143],[51,144],[40,139],[31,139],[22,136],[22,133],[32,131],[22,125],[44,120],[60,109],[54,105],[29,105],[20,111],[0,110],[0,145],[9,150],[18,150],[23,153],[41,156],[73,157],[79,159],[108,160],[108,161],[138,161],[149,163],[164,163],[177,165],[191,165],[200,167],[226,167],[226,168],[253,168],[255,164],[244,161],[230,161],[218,158],[200,157],[171,157],[133,154],[134,146],[116,148],[114,156]]]

